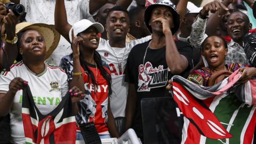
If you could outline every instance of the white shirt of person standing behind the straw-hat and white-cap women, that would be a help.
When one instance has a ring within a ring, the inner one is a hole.
[[[91,17],[89,1],[90,0],[65,0],[67,19],[70,25],[73,25],[81,19]],[[27,22],[54,25],[55,0],[20,0],[20,4],[25,6]],[[59,66],[61,58],[71,53],[70,43],[61,36],[57,49],[55,49],[50,58],[47,59],[47,62]]]

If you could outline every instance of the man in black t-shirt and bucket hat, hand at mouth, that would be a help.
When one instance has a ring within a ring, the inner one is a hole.
[[[190,70],[192,47],[174,42],[179,28],[179,14],[169,0],[158,0],[147,7],[145,23],[152,40],[133,47],[126,65],[125,81],[129,82],[125,129],[133,128],[143,141],[141,99],[170,97],[165,90],[173,75],[185,75]]]

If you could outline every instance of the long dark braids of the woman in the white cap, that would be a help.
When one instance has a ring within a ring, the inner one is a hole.
[[[94,50],[94,61],[97,65],[97,68],[100,70],[100,73],[102,74],[102,76],[106,79],[107,83],[108,83],[108,95],[111,95],[112,93],[112,89],[111,89],[111,75],[107,72],[107,70],[103,67],[102,65],[102,60],[100,57],[100,54]],[[79,60],[81,62],[81,66],[83,67],[83,69],[85,71],[87,71],[88,74],[88,79],[87,81],[90,81],[90,78],[92,79],[92,83],[93,85],[98,86],[98,83],[95,79],[94,74],[92,73],[92,71],[90,70],[90,68],[87,66],[86,62],[84,61],[82,54],[79,55]]]

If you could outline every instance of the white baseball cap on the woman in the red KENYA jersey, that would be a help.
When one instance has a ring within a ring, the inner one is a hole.
[[[77,34],[83,32],[89,27],[95,27],[99,33],[103,33],[104,27],[99,22],[91,22],[90,20],[80,20],[74,23],[73,27],[69,30],[69,40],[72,42],[72,30],[74,30],[74,36],[77,36]]]

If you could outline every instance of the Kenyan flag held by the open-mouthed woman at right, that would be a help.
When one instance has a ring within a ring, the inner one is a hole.
[[[173,97],[185,116],[181,143],[250,143],[256,126],[256,80],[237,71],[222,82],[199,86],[173,76]]]

